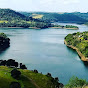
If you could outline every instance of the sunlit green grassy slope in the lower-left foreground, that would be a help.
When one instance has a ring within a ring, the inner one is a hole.
[[[16,80],[11,76],[12,69],[0,66],[0,88],[9,88],[11,82],[19,82],[21,88],[55,88],[50,77],[29,70],[19,69],[21,76]]]

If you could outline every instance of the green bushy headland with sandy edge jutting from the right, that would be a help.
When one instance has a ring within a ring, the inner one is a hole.
[[[68,34],[64,43],[77,51],[82,61],[88,62],[88,32]]]

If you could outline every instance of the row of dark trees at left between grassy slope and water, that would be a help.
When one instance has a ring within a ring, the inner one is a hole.
[[[13,59],[0,60],[0,66],[8,66],[8,67],[15,67],[15,68],[20,68],[20,69],[27,69],[27,67],[24,64],[18,63]]]

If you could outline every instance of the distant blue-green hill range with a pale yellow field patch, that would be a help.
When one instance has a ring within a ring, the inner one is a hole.
[[[74,13],[48,13],[48,12],[20,12],[25,16],[29,17],[39,17],[38,19],[42,19],[49,22],[75,22],[75,23],[82,23],[87,22],[88,20],[85,19],[86,17],[81,17],[78,14]]]

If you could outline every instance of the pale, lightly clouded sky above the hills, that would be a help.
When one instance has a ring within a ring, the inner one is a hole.
[[[88,0],[0,0],[0,8],[27,12],[88,12]]]

